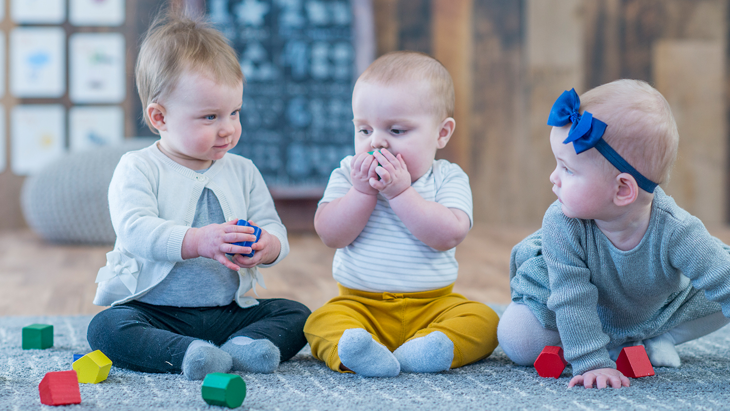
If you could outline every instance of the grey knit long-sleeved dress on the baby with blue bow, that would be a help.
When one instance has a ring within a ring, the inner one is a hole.
[[[573,374],[615,368],[608,350],[722,310],[730,317],[730,247],[656,188],[649,226],[632,250],[556,201],[542,229],[510,258],[512,301],[560,332]],[[709,301],[708,301],[709,300]]]

